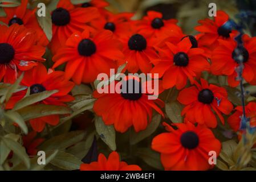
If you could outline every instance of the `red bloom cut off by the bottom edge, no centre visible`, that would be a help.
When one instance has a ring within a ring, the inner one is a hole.
[[[141,171],[141,168],[120,161],[119,154],[113,151],[109,154],[108,159],[103,154],[99,154],[97,162],[81,164],[80,171]]]

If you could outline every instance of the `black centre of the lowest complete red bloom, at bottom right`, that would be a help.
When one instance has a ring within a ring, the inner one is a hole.
[[[193,149],[199,144],[199,138],[193,131],[186,131],[181,135],[180,142],[184,148]]]

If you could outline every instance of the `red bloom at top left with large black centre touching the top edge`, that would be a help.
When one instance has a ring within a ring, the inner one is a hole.
[[[52,40],[50,48],[53,53],[66,43],[66,40],[77,31],[90,29],[86,24],[100,16],[96,7],[75,7],[70,0],[60,0],[57,8],[51,13]]]

